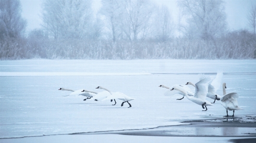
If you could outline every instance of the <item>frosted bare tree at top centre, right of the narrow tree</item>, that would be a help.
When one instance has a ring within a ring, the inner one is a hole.
[[[146,38],[154,6],[150,0],[123,0],[122,31],[129,40]]]

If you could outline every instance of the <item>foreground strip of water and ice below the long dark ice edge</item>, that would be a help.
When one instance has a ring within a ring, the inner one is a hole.
[[[212,120],[183,121],[182,125],[158,126],[156,128],[81,132],[68,134],[52,134],[42,136],[26,136],[14,138],[1,138],[0,143],[148,143],[149,141],[161,143],[204,142],[219,143],[256,143],[256,116],[228,117]],[[124,141],[126,139],[126,141]],[[132,142],[130,142],[132,141]]]

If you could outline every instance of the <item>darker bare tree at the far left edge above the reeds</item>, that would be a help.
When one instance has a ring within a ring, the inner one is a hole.
[[[19,0],[0,0],[0,37],[16,38],[26,28],[26,21],[21,17]]]

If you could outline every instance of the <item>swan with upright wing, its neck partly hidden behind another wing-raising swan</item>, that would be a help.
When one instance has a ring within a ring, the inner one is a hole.
[[[222,83],[222,77],[223,72],[218,72],[213,81],[208,85],[208,92],[206,96],[210,99],[214,99],[213,103],[215,103],[216,100],[220,100],[221,98],[221,96],[218,95],[216,92]],[[192,85],[195,87],[195,85],[191,82],[187,82],[186,85]]]

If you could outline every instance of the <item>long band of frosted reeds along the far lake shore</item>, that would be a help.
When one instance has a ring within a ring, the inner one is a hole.
[[[1,44],[1,59],[255,59],[256,37],[232,32],[214,40],[173,38],[167,42],[36,40]]]

